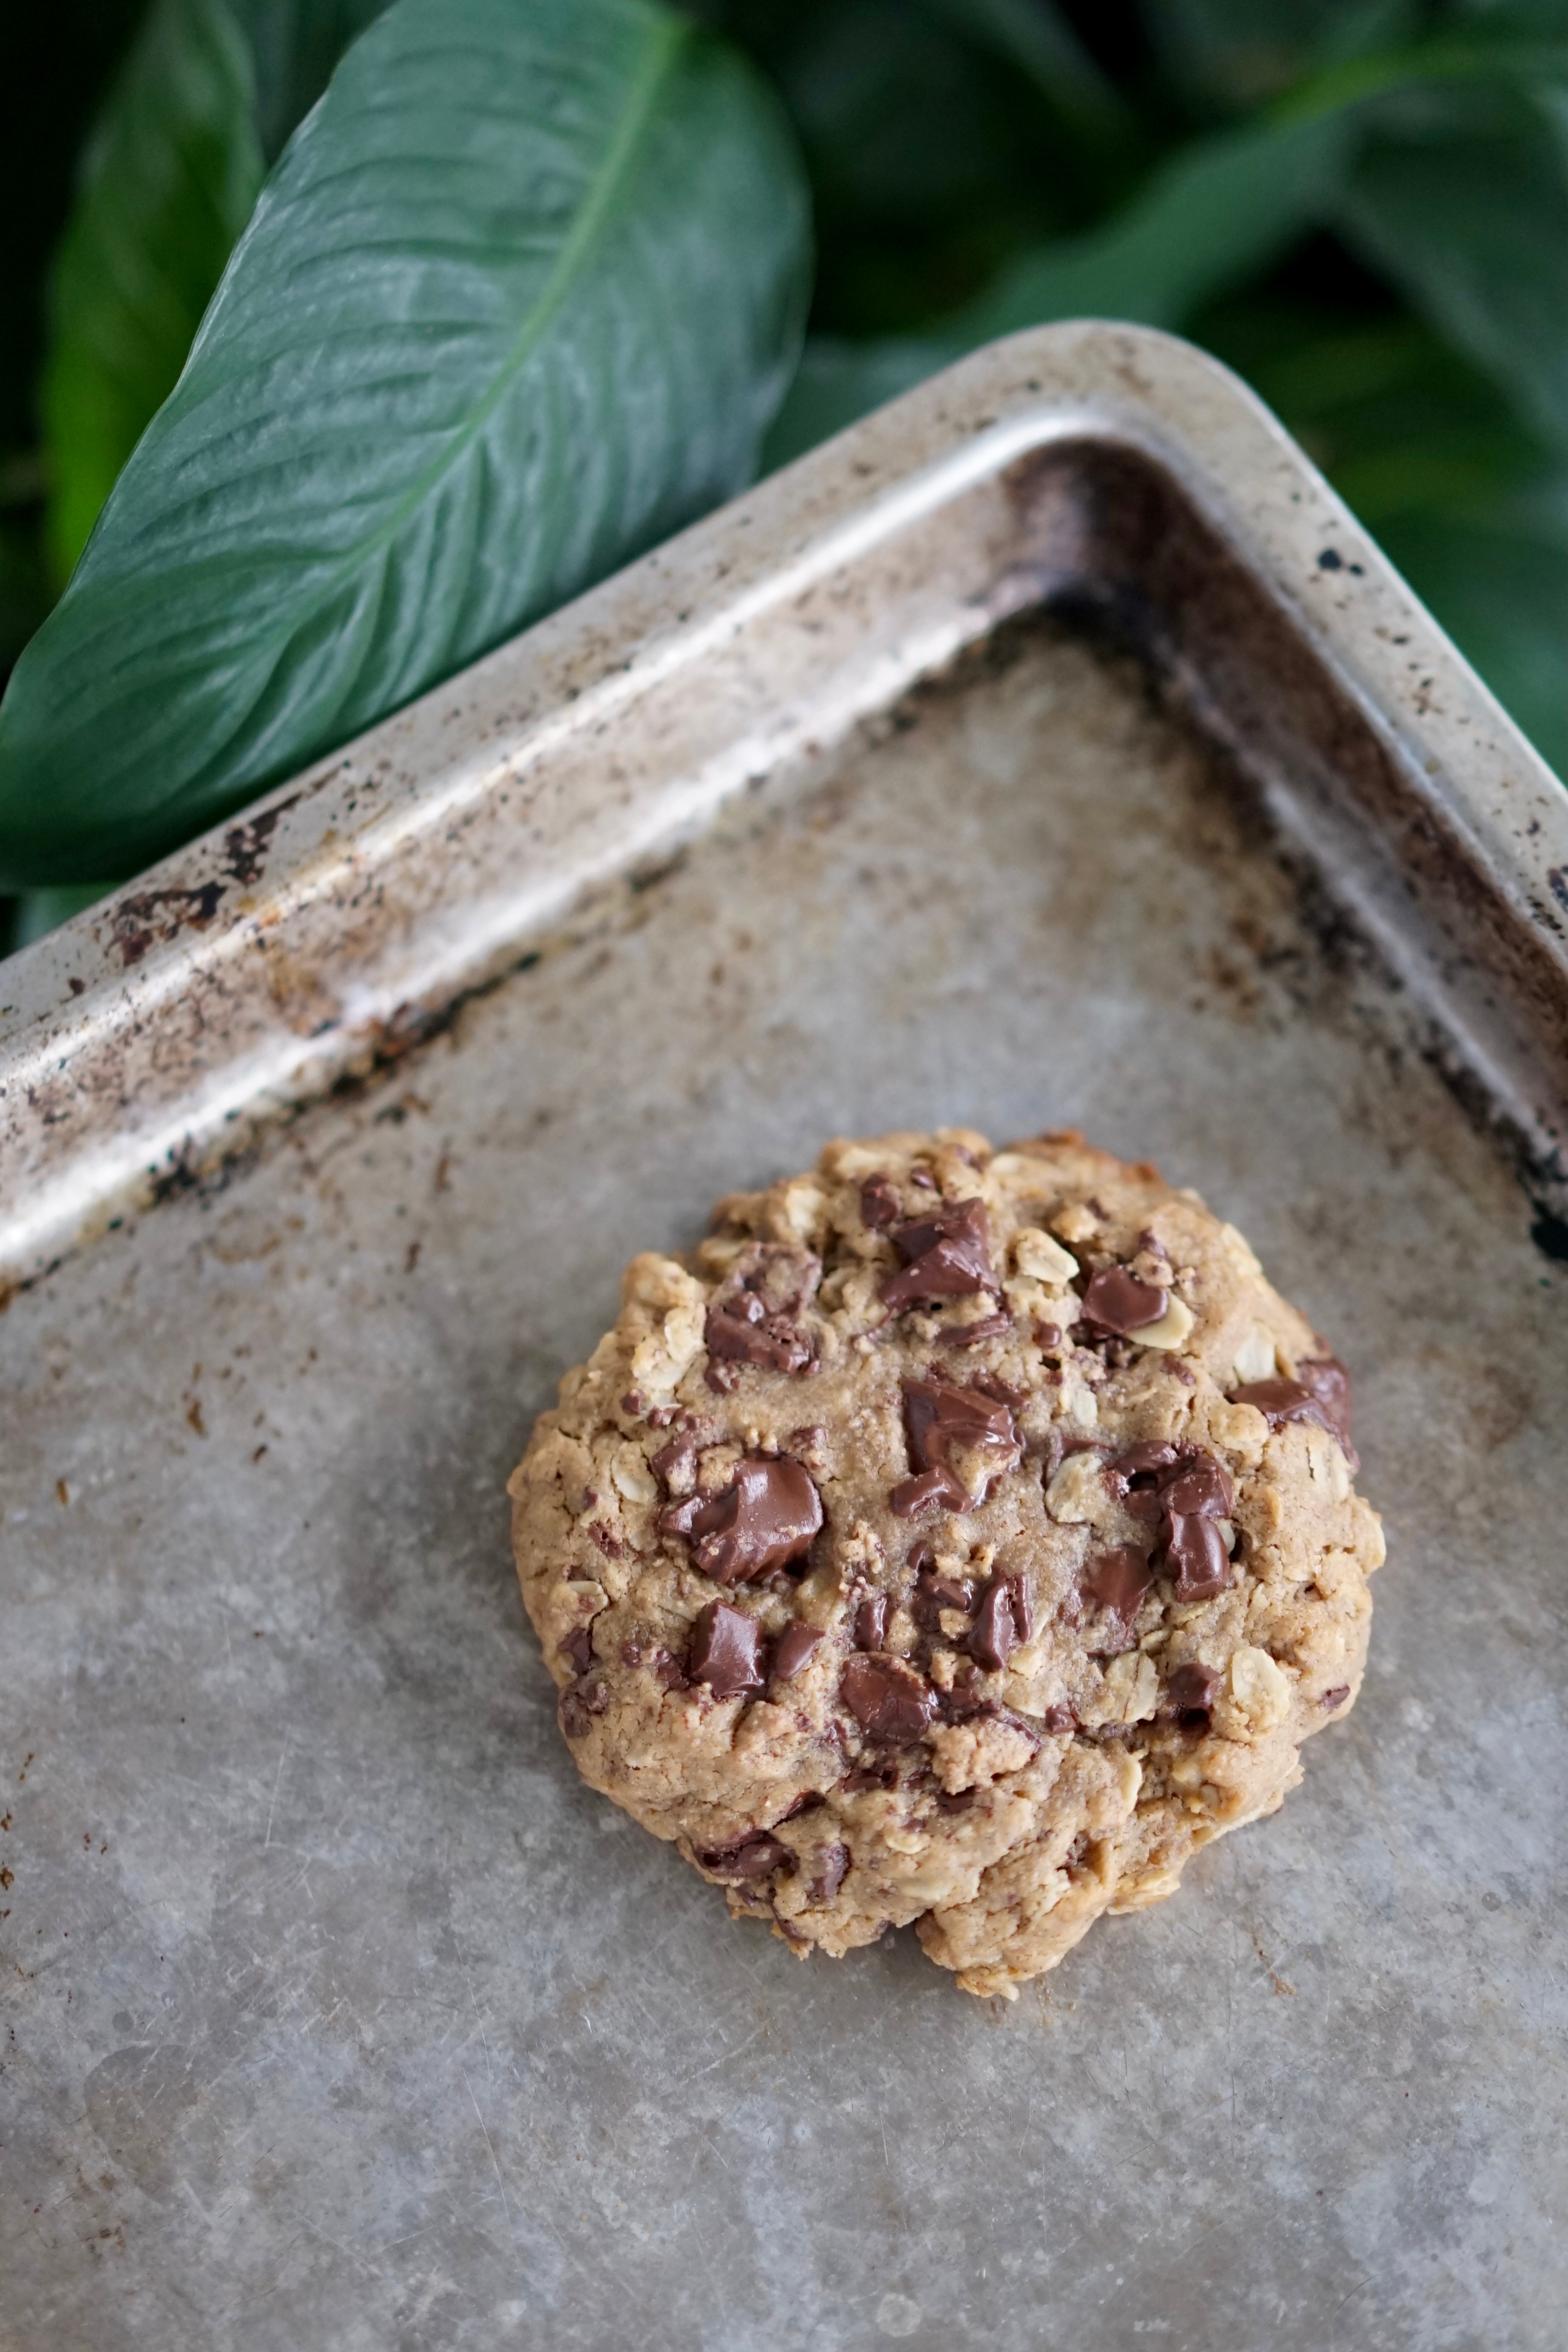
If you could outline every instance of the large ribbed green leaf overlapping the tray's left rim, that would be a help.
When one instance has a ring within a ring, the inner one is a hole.
[[[752,473],[806,195],[642,0],[395,0],[0,706],[0,873],[129,873]]]

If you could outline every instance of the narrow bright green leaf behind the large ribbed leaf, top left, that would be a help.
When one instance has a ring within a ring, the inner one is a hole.
[[[223,0],[158,0],[87,148],[54,263],[42,379],[59,581],[148,419],[261,188],[252,66]]]

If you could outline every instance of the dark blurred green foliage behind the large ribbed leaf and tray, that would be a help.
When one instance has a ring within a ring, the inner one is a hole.
[[[16,14],[0,675],[172,390],[268,165],[378,7]],[[773,80],[816,202],[811,336],[764,461],[1009,327],[1173,327],[1262,393],[1568,769],[1561,0],[691,14]],[[66,903],[35,894],[21,934]]]

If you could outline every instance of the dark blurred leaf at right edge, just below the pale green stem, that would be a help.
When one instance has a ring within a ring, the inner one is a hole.
[[[1340,202],[1347,242],[1556,445],[1568,440],[1566,214],[1561,122],[1523,94],[1490,96],[1474,127],[1448,108],[1406,134],[1382,129]]]

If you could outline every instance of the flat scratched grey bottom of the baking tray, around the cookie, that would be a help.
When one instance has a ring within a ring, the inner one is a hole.
[[[1556,2343],[1563,1268],[1138,673],[1056,626],[0,1319],[7,2352]],[[639,1244],[1081,1124],[1359,1378],[1354,1719],[1011,2006],[588,1795],[503,1477]]]

